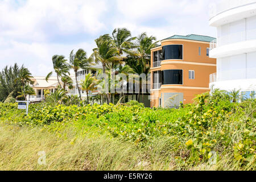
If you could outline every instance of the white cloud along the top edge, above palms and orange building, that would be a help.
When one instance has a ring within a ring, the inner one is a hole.
[[[154,17],[171,18],[174,15],[200,13],[205,0],[116,0],[118,10],[127,19],[142,20]]]

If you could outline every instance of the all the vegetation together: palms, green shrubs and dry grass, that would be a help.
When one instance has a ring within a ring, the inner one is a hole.
[[[31,104],[28,115],[13,102],[35,94],[30,71],[16,64],[3,69],[0,170],[255,170],[255,97],[242,98],[240,90],[216,89],[179,109],[146,108],[139,103],[140,97],[122,103],[123,80],[113,82],[114,75],[147,76],[155,41],[146,33],[132,37],[126,28],[118,28],[112,36],[96,39],[97,48],[89,57],[83,49],[72,51],[69,63],[64,56],[53,56],[58,89],[45,90],[45,101]],[[89,69],[94,63],[102,64],[97,75],[104,73],[109,80],[89,73],[79,82],[79,69]],[[70,69],[75,72],[79,96],[68,94],[73,88]],[[104,91],[118,82],[121,92]],[[138,82],[142,89],[142,79]],[[96,88],[102,91],[89,96]],[[86,101],[81,90],[86,92]],[[119,101],[114,105],[117,94]],[[40,151],[46,152],[46,165],[38,163]]]

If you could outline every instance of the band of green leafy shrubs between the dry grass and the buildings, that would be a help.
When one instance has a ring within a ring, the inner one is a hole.
[[[9,107],[1,105],[1,117]],[[151,141],[168,138],[168,148],[180,166],[209,162],[216,152],[217,162],[230,156],[230,163],[255,169],[256,100],[230,102],[224,93],[201,94],[195,103],[180,109],[150,109],[131,101],[118,105],[57,105],[47,103],[30,106],[28,116],[19,125],[59,126],[72,122],[77,131],[96,130],[113,138],[146,147]],[[2,111],[2,107],[5,108]],[[11,107],[15,113],[16,107]],[[55,129],[54,129],[55,130]],[[57,130],[57,128],[56,128]]]

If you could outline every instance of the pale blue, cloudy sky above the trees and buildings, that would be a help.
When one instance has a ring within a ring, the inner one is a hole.
[[[24,64],[33,76],[52,71],[52,56],[74,49],[90,56],[100,35],[126,27],[158,40],[172,35],[216,37],[211,0],[0,0],[0,70]]]

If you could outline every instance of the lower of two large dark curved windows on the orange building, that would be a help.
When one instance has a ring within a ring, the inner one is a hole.
[[[181,69],[170,69],[162,71],[163,85],[182,85],[183,71]]]

